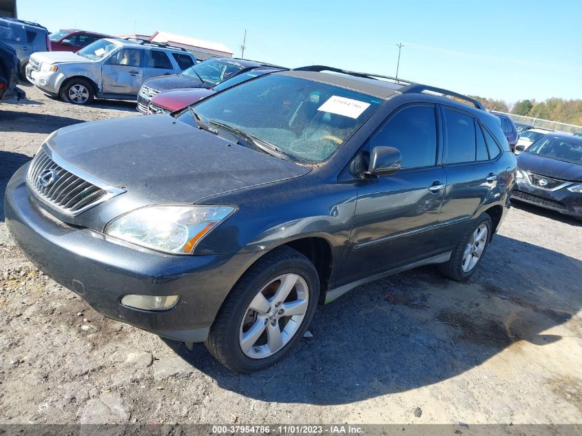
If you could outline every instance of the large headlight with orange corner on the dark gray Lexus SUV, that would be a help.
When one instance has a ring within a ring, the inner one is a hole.
[[[112,220],[105,234],[166,253],[189,254],[234,210],[231,206],[142,207]]]

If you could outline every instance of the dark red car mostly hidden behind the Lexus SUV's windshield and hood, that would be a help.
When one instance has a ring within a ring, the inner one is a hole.
[[[231,79],[227,79],[211,88],[186,88],[177,90],[162,91],[152,97],[147,107],[147,114],[167,114],[176,110],[184,109],[186,106],[196,103],[198,100],[209,95],[216,94],[239,83],[249,81],[264,74],[282,71],[284,68],[258,67],[237,74]]]

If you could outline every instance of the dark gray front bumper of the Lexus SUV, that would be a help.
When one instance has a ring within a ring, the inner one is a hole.
[[[172,256],[70,227],[37,206],[24,183],[27,166],[12,176],[4,197],[12,238],[48,276],[108,318],[166,338],[202,342],[230,289],[260,257]],[[143,311],[121,305],[127,294],[180,295],[180,300],[167,311]]]

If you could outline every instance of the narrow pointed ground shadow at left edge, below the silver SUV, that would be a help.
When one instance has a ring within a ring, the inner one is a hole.
[[[83,123],[83,120],[68,116],[3,110],[3,108],[0,110],[0,132],[50,134],[56,129],[77,123]]]

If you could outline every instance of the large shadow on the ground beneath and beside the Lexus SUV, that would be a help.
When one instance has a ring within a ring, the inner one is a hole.
[[[310,327],[313,338],[259,373],[229,372],[202,344],[189,351],[179,342],[166,343],[240,395],[265,402],[346,404],[455,377],[523,342],[544,346],[561,340],[542,332],[582,308],[580,277],[580,260],[496,236],[469,282],[453,282],[435,267],[424,267],[320,307]]]

